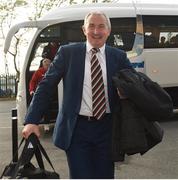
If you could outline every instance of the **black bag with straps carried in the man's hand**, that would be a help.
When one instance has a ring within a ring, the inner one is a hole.
[[[19,149],[23,142],[24,139],[22,139]],[[42,154],[53,169],[52,172],[45,170]],[[38,168],[30,162],[34,155],[39,166]],[[37,136],[31,134],[25,142],[25,146],[18,162],[11,162],[6,166],[1,175],[1,179],[60,179],[60,176],[55,172],[54,167]]]

